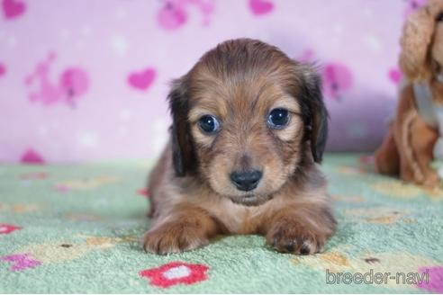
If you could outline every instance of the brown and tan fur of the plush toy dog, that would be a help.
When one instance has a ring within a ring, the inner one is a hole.
[[[384,142],[375,152],[375,165],[382,174],[399,174],[402,180],[433,186],[436,172],[429,166],[438,130],[420,118],[413,83],[429,83],[435,103],[443,103],[443,84],[436,76],[443,73],[443,0],[429,3],[411,14],[403,26],[399,65],[407,79],[393,124]]]

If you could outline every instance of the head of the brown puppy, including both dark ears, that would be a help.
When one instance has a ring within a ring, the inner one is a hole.
[[[258,40],[207,52],[168,96],[177,176],[198,176],[245,205],[269,200],[297,177],[306,149],[321,162],[327,112],[320,78]],[[309,142],[309,144],[308,144]]]

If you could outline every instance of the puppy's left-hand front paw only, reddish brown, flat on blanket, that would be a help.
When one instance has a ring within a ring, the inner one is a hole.
[[[208,239],[198,228],[186,227],[178,222],[149,230],[141,239],[146,252],[159,255],[193,250],[206,244]]]

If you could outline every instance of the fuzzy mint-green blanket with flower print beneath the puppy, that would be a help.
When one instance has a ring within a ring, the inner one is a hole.
[[[443,191],[374,174],[370,160],[326,156],[339,230],[311,256],[258,236],[144,253],[150,161],[1,165],[0,292],[443,292]]]

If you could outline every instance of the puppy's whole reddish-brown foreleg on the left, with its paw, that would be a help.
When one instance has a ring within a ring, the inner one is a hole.
[[[217,224],[209,214],[191,205],[177,205],[142,237],[145,251],[159,255],[192,250],[208,244],[217,233]]]

